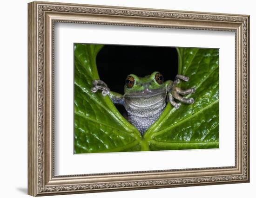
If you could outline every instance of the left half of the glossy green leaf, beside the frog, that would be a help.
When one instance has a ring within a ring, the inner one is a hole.
[[[96,56],[103,45],[74,45],[74,153],[141,150],[141,134],[108,96],[92,93],[99,79]]]

